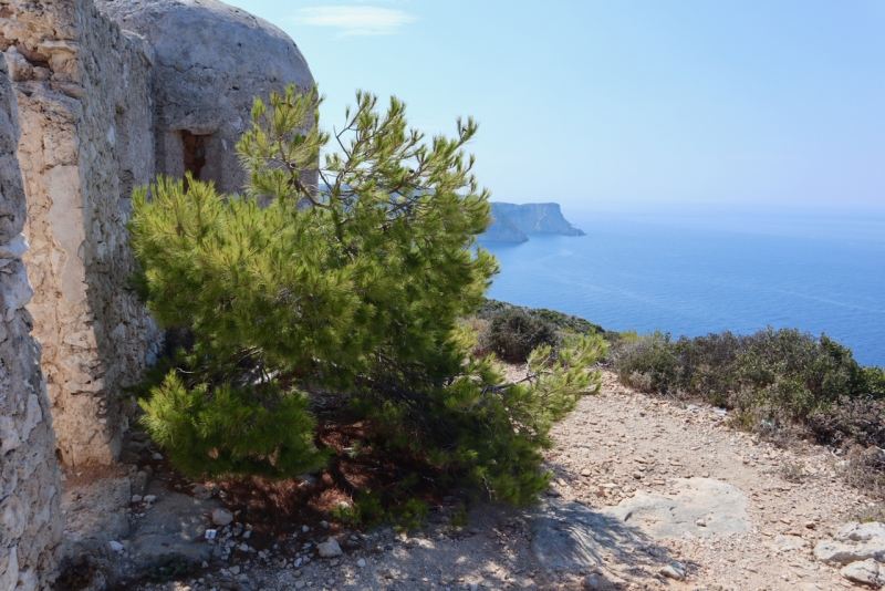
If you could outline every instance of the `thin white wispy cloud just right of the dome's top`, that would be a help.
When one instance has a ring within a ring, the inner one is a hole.
[[[389,35],[414,20],[408,12],[377,7],[315,7],[295,13],[295,22],[339,29],[337,37]]]

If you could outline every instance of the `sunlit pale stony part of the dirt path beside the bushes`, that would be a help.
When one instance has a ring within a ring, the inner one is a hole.
[[[759,444],[709,406],[634,393],[611,373],[603,392],[582,401],[554,433],[559,445],[548,464],[555,491],[566,500],[613,506],[637,489],[666,494],[674,478],[689,477],[722,480],[748,497],[749,532],[663,542],[689,566],[690,588],[851,587],[811,550],[872,499],[844,485],[837,458],[823,448],[796,454]],[[788,481],[785,468],[798,465],[805,476]],[[623,579],[643,583],[635,576]]]

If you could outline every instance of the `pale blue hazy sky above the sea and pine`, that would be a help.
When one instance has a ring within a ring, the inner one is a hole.
[[[885,210],[885,1],[228,0],[356,89],[480,123],[494,200]]]

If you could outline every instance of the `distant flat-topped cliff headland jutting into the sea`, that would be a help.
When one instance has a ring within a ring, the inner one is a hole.
[[[529,234],[560,234],[584,236],[572,226],[560,210],[559,204],[491,204],[492,222],[478,236],[485,242],[528,242]]]

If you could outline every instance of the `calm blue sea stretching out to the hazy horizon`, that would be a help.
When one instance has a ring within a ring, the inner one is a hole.
[[[501,267],[490,298],[615,331],[798,328],[885,366],[885,212],[563,214],[587,236],[482,245]]]

